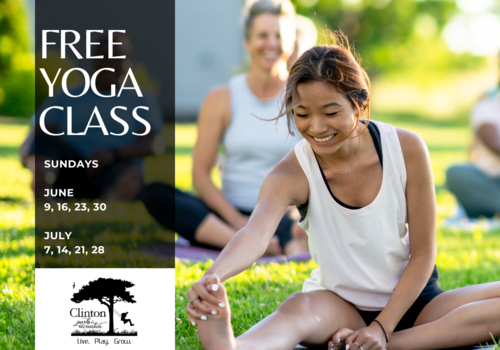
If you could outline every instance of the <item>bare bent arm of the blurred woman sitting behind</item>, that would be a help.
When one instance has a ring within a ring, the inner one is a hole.
[[[214,212],[234,228],[240,229],[246,220],[215,186],[210,176],[230,119],[229,87],[212,90],[203,102],[198,118],[198,139],[193,149],[193,187]]]

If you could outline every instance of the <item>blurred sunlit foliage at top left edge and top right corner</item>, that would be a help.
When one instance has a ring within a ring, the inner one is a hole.
[[[341,29],[354,43],[375,115],[465,123],[497,86],[500,0],[292,1],[319,31]],[[34,113],[31,7],[0,0],[0,115]]]

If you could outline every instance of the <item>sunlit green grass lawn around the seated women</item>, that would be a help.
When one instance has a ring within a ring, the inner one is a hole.
[[[455,210],[454,198],[444,189],[444,172],[449,165],[467,160],[471,141],[467,126],[410,119],[397,126],[417,132],[429,147],[440,222]],[[17,157],[27,130],[26,121],[0,118],[0,350],[34,349],[34,203],[30,174]],[[192,190],[190,152],[195,139],[194,125],[176,127],[176,186],[188,191]],[[437,265],[444,289],[500,280],[500,232],[440,227],[437,237]],[[176,262],[176,349],[201,348],[195,328],[187,322],[185,292],[210,264]],[[300,291],[314,268],[314,262],[254,265],[229,280],[235,333],[243,333],[291,293]]]

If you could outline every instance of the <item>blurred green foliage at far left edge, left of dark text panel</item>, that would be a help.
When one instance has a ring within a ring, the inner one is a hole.
[[[23,0],[0,0],[0,115],[34,112],[35,62]]]

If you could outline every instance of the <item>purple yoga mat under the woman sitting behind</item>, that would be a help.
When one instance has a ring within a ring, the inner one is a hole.
[[[193,246],[175,246],[175,257],[181,261],[203,261],[212,259],[215,260],[220,254],[220,250],[212,250]],[[265,264],[270,262],[285,263],[287,261],[303,262],[311,259],[311,254],[303,253],[297,255],[279,255],[279,256],[265,256],[257,260],[258,264]]]

